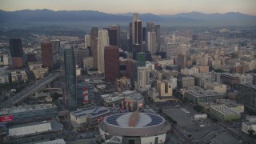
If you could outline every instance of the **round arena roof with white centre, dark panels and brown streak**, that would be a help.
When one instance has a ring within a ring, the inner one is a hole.
[[[101,129],[110,134],[142,136],[162,133],[166,121],[160,115],[136,111],[110,115],[104,119],[102,125]]]

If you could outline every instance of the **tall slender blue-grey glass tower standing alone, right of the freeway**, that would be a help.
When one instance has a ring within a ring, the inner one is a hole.
[[[65,105],[68,110],[76,110],[76,68],[74,62],[74,49],[71,46],[66,46],[64,49],[64,66],[66,80]]]

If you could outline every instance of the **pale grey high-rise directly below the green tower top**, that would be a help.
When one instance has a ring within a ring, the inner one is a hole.
[[[150,70],[146,66],[138,66],[138,86],[150,83]]]

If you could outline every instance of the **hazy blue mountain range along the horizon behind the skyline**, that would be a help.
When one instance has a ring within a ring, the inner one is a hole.
[[[0,10],[0,24],[8,22],[98,22],[127,23],[133,13],[106,14],[94,10]],[[138,14],[142,22],[154,22],[166,26],[255,26],[256,16],[230,12],[204,14],[200,12],[181,14]],[[128,24],[127,24],[128,25]]]

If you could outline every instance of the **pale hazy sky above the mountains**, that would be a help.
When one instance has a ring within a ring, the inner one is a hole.
[[[106,13],[241,12],[256,15],[256,0],[0,0],[0,9],[98,10]]]

